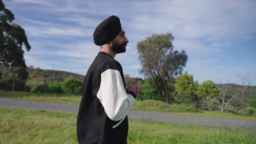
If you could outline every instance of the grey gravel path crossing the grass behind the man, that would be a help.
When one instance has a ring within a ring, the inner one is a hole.
[[[78,105],[39,103],[39,102],[26,101],[26,100],[13,100],[13,99],[2,99],[2,98],[0,98],[0,106],[17,107],[21,109],[50,110],[50,111],[74,112],[74,113],[77,113],[79,109]],[[246,127],[246,128],[256,129],[256,122],[238,121],[233,119],[181,116],[181,115],[173,115],[173,114],[167,114],[167,113],[142,112],[142,111],[132,111],[128,116],[130,118],[149,119],[152,121],[214,125],[214,126],[221,126],[221,127]]]

